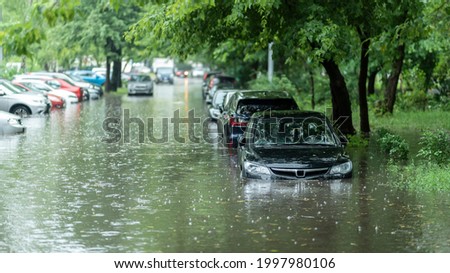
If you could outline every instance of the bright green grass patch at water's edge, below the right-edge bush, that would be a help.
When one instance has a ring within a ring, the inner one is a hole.
[[[389,183],[416,192],[450,192],[450,165],[415,164],[387,166]]]

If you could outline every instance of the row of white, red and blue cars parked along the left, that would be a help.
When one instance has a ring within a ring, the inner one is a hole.
[[[56,72],[15,75],[11,81],[0,79],[0,135],[24,132],[24,117],[99,99],[102,85],[75,74]]]

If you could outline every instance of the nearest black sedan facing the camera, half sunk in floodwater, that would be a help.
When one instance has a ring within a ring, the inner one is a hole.
[[[312,111],[255,113],[239,139],[244,178],[334,179],[352,176],[352,162],[324,114]]]

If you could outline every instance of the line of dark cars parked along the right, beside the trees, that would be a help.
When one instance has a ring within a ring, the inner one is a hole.
[[[234,77],[213,73],[204,75],[203,99],[223,144],[237,148],[243,178],[352,176],[345,142],[323,113],[302,111],[288,92],[240,90]]]

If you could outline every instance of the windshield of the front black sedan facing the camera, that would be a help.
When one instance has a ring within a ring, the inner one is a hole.
[[[259,119],[251,126],[255,146],[337,145],[326,120],[318,117]]]

